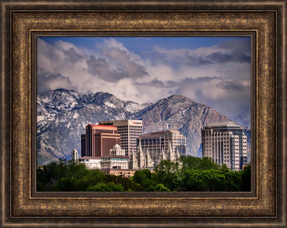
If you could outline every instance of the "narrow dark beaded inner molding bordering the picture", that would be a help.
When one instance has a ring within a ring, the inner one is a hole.
[[[37,129],[37,37],[41,36],[248,36],[251,37],[251,125],[256,124],[256,42],[255,31],[31,31],[31,196],[32,197],[256,197],[256,144],[251,145],[251,192],[37,192],[36,190],[36,129]],[[252,142],[256,142],[256,129],[251,131]]]

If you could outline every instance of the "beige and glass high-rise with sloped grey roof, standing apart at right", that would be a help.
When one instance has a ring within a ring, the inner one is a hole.
[[[243,128],[233,121],[213,122],[201,127],[202,157],[241,170],[247,164],[247,137]]]

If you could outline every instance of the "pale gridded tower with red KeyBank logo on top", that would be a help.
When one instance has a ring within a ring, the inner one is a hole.
[[[117,133],[121,135],[120,145],[121,148],[125,150],[126,155],[131,155],[133,151],[137,150],[137,138],[139,138],[143,132],[141,120],[100,121],[98,124],[117,127]]]

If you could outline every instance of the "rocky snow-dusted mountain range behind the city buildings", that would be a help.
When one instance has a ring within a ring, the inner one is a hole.
[[[37,96],[37,163],[70,158],[72,149],[80,152],[80,134],[89,123],[117,119],[142,119],[143,133],[179,130],[187,137],[187,153],[201,156],[200,127],[229,119],[215,109],[181,95],[156,103],[123,101],[112,94],[79,94],[56,89]],[[247,138],[250,138],[250,128]]]

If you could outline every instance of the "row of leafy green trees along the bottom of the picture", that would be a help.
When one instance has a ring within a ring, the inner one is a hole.
[[[251,167],[230,171],[209,157],[163,160],[133,177],[108,175],[83,163],[63,160],[37,167],[37,191],[251,191]]]

